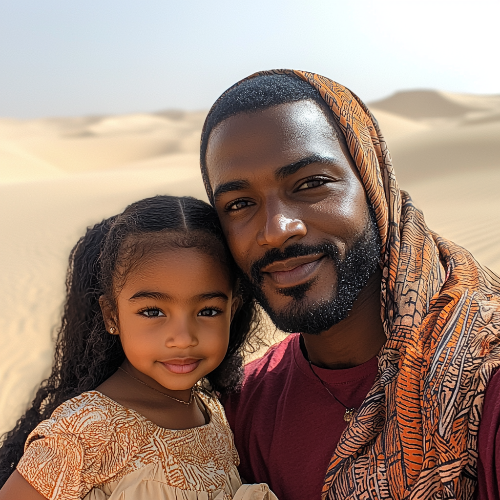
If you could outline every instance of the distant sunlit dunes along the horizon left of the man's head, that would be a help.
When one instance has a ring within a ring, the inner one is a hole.
[[[0,119],[0,154],[5,155],[0,157],[0,181],[42,178],[45,171],[52,178],[62,177],[172,154],[197,155],[204,117],[204,112],[170,111],[87,118]],[[45,170],[40,166],[37,171],[35,164],[45,165]]]

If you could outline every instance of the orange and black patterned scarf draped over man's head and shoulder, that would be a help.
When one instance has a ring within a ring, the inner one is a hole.
[[[299,77],[319,91],[345,135],[382,242],[387,341],[375,383],[330,460],[323,500],[468,500],[484,391],[500,366],[500,278],[427,228],[355,94],[306,71],[248,78],[266,74]]]

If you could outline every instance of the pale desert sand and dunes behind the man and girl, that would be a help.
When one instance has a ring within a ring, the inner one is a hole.
[[[428,226],[500,272],[500,95],[406,91],[370,108]],[[206,199],[204,116],[0,118],[0,432],[49,372],[67,257],[85,227],[145,196]]]

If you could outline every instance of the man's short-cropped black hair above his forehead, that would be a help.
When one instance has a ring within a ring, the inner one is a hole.
[[[213,203],[208,172],[206,170],[206,147],[212,129],[221,121],[238,113],[251,113],[278,104],[312,100],[322,108],[326,104],[312,85],[298,76],[289,74],[266,74],[254,76],[226,90],[210,109],[201,134],[200,165],[208,197]]]

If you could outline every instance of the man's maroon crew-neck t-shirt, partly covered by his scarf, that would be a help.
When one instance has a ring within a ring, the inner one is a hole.
[[[320,500],[326,468],[342,431],[344,406],[311,373],[293,333],[245,368],[241,392],[225,403],[248,482],[266,482],[279,500]],[[328,389],[359,407],[373,385],[377,358],[354,368],[314,367]],[[479,428],[480,500],[500,500],[500,371],[491,378]]]

